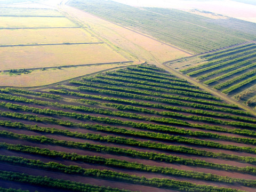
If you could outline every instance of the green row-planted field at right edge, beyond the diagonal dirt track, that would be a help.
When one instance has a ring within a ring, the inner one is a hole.
[[[184,66],[184,63],[190,64]],[[185,68],[179,68],[181,72],[230,96],[235,95],[247,105],[256,105],[255,88],[252,88],[256,85],[255,43],[204,54],[181,61],[182,65]]]

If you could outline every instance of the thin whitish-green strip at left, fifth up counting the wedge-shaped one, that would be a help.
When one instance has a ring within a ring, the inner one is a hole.
[[[60,12],[53,9],[20,9],[20,8],[1,8],[0,16],[52,16],[52,17],[64,17]]]

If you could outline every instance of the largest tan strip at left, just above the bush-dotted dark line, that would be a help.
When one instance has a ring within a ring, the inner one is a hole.
[[[0,70],[127,61],[106,44],[0,47]]]

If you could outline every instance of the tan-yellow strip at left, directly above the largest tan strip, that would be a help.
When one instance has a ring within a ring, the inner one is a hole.
[[[0,33],[0,45],[52,44],[66,42],[91,43],[99,42],[99,40],[86,30],[80,28],[2,29]]]

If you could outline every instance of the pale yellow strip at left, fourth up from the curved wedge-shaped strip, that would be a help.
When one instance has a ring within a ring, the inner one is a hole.
[[[22,27],[77,27],[67,18],[0,17],[0,28]]]

